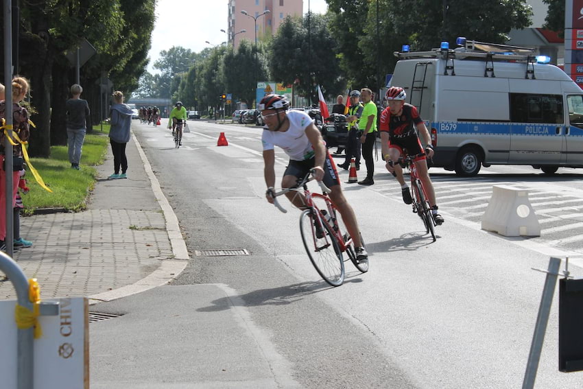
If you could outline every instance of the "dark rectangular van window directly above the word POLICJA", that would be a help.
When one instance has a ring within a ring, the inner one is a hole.
[[[510,93],[510,121],[515,123],[563,123],[562,96]]]

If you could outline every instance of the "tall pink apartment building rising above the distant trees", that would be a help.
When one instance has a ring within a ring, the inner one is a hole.
[[[302,16],[303,6],[303,0],[229,0],[228,43],[237,49],[241,39],[254,43],[256,33],[257,40],[274,34],[287,15]]]

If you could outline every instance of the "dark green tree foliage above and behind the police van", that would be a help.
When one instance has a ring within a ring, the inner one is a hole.
[[[551,0],[548,0],[551,1]],[[342,71],[353,87],[381,86],[396,62],[393,51],[439,47],[457,36],[504,43],[510,30],[530,25],[525,0],[326,0]],[[378,10],[378,13],[377,13]],[[378,31],[378,33],[377,33]],[[378,36],[377,36],[378,34]],[[376,88],[372,88],[376,89]]]

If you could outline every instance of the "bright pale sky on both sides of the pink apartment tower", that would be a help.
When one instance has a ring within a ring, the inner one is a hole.
[[[207,47],[204,43],[221,43],[226,36],[220,30],[227,30],[228,0],[158,0],[156,25],[152,33],[150,64],[148,71],[154,73],[152,64],[158,59],[160,51],[172,46],[182,46],[198,52]],[[326,12],[326,1],[310,0],[314,13]],[[308,10],[308,0],[304,0],[304,13]]]

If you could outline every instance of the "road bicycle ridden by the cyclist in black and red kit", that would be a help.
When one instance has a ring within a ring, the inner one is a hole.
[[[423,182],[420,180],[419,175],[417,174],[417,168],[415,166],[414,161],[417,158],[425,156],[425,153],[422,152],[420,154],[410,156],[405,154],[405,157],[399,157],[398,163],[403,168],[409,169],[409,176],[411,178],[411,186],[409,190],[411,191],[411,197],[413,199],[412,207],[413,212],[419,215],[421,220],[423,220],[423,225],[425,226],[425,233],[431,233],[431,237],[433,241],[436,241],[436,231],[435,226],[436,221],[433,218],[433,213],[431,212],[431,207],[429,206],[429,197],[427,196],[427,191],[423,186]],[[393,161],[388,161],[388,163],[392,166],[394,164]],[[394,173],[393,173],[394,175]]]

